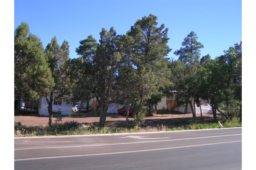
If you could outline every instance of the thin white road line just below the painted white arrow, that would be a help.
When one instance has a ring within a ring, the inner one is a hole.
[[[54,148],[67,148],[67,147],[90,147],[90,146],[107,146],[107,145],[127,145],[127,144],[135,144],[135,143],[180,141],[180,140],[189,140],[189,139],[203,139],[203,138],[214,138],[214,137],[236,136],[236,135],[242,135],[242,134],[229,134],[229,135],[221,135],[221,136],[207,136],[207,137],[198,137],[198,138],[170,139],[170,140],[161,140],[161,141],[144,141],[144,142],[131,142],[131,143],[111,143],[111,144],[79,145],[79,146],[64,146],[64,147],[37,147],[37,148],[23,148],[23,149],[14,149],[14,150],[15,151],[19,151],[19,150],[29,150],[29,149],[54,149]]]

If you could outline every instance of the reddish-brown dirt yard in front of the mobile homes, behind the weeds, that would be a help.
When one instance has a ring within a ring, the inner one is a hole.
[[[212,114],[203,114],[202,115],[204,120],[212,120],[213,115]],[[221,115],[217,113],[217,118],[219,118]],[[201,115],[196,114],[197,120],[201,120]],[[56,120],[56,118],[53,118],[53,122]],[[99,122],[99,115],[92,114],[92,113],[81,113],[81,115],[78,117],[77,113],[72,112],[71,117],[65,117],[62,118],[62,122],[76,120],[79,123],[93,123],[93,122]],[[126,116],[125,115],[119,115],[119,114],[107,114],[106,122],[124,122],[125,123]],[[133,120],[132,116],[129,116],[129,120]],[[180,113],[180,112],[171,112],[168,113],[166,111],[159,112],[154,114],[154,116],[151,117],[145,117],[145,122],[143,126],[167,126],[167,127],[177,127],[177,121],[192,121],[193,117],[191,113]],[[38,114],[28,114],[28,113],[21,113],[19,115],[14,116],[15,122],[21,122],[25,125],[32,125],[32,126],[44,126],[47,125],[49,118],[48,117],[41,117]]]

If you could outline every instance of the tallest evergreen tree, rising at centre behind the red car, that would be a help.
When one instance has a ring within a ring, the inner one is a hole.
[[[167,45],[168,28],[164,24],[157,27],[157,17],[150,14],[138,19],[127,35],[133,38],[130,56],[137,69],[140,95],[140,107],[144,99],[149,99],[156,94],[162,82],[167,82],[168,59],[165,58],[172,50]],[[145,79],[146,78],[146,79]]]

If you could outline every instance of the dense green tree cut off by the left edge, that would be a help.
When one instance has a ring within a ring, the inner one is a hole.
[[[39,37],[29,32],[22,22],[14,32],[14,96],[20,99],[38,99],[54,86]]]

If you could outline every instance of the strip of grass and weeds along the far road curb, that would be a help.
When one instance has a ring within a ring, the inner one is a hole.
[[[74,115],[73,115],[74,116]],[[143,115],[144,116],[144,115]],[[129,121],[127,126],[124,122],[106,122],[105,127],[99,127],[97,123],[79,123],[77,121],[62,122],[61,118],[56,119],[51,127],[45,126],[26,126],[21,122],[14,122],[14,136],[60,136],[60,135],[88,135],[88,134],[114,134],[114,133],[138,133],[138,132],[160,132],[160,131],[175,131],[175,130],[197,130],[197,129],[213,129],[213,128],[232,128],[241,127],[240,118],[225,120],[221,124],[214,120],[199,121],[196,123],[176,120],[173,127],[163,125],[157,126],[142,126],[144,117],[135,117]],[[138,121],[141,124],[138,124]]]

